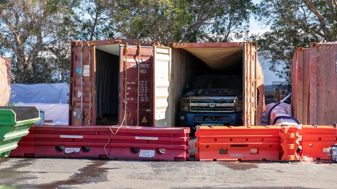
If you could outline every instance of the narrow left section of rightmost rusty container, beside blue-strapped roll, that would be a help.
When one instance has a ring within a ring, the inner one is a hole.
[[[308,124],[310,48],[299,47],[292,62],[292,116]]]

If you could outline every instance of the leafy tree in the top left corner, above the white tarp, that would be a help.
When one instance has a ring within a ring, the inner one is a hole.
[[[70,30],[65,29],[73,4],[76,2],[67,0],[8,0],[0,4],[0,40],[13,52],[16,82],[26,83],[36,58],[70,36]]]

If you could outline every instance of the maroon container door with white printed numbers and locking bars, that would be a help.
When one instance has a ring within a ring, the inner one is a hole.
[[[153,46],[120,48],[119,123],[153,126]]]

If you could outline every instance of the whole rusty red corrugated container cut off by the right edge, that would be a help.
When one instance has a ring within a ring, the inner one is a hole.
[[[337,42],[298,48],[292,62],[292,114],[301,124],[336,122]]]

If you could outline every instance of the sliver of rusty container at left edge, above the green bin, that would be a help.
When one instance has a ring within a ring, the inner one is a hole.
[[[8,106],[11,96],[11,59],[0,56],[0,106]]]

